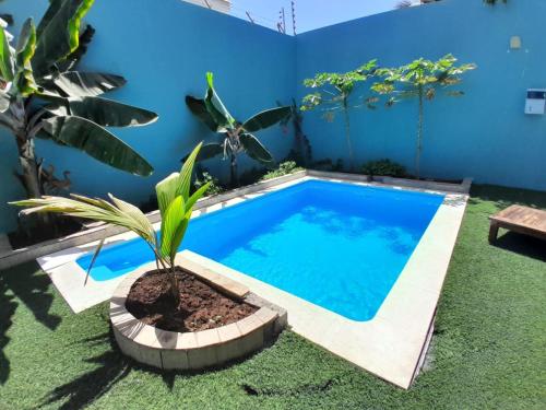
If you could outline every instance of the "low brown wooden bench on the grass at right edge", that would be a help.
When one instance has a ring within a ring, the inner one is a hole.
[[[520,234],[546,239],[546,211],[529,207],[511,206],[489,218],[489,243],[497,241],[499,227]]]

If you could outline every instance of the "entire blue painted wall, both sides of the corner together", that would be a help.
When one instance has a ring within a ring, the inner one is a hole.
[[[8,0],[2,10],[15,14],[21,24],[27,15],[38,20],[46,4],[46,0]],[[186,94],[203,93],[207,70],[216,73],[216,86],[232,114],[245,119],[276,101],[301,98],[302,80],[319,71],[352,70],[371,58],[399,66],[452,52],[478,69],[465,75],[460,86],[464,97],[438,97],[427,104],[423,174],[473,176],[479,183],[546,190],[546,117],[523,114],[526,89],[546,87],[544,15],[543,0],[510,0],[492,8],[480,0],[443,0],[294,38],[179,0],[162,0],[161,7],[149,0],[96,0],[87,20],[97,34],[84,66],[123,74],[128,85],[110,97],[159,114],[155,125],[117,131],[156,172],[150,178],[131,176],[43,141],[37,152],[59,172],[72,173],[73,191],[96,196],[111,191],[143,201],[198,141],[214,138],[183,103]],[[509,49],[513,35],[522,37],[521,50]],[[356,94],[365,92],[361,87]],[[357,162],[390,157],[411,169],[416,117],[414,102],[376,112],[354,109]],[[329,124],[320,113],[306,114],[316,159],[347,160],[340,119]],[[292,145],[292,138],[276,127],[261,136],[276,159]],[[15,210],[5,202],[21,198],[23,191],[12,177],[14,142],[10,136],[0,139],[0,232],[5,232],[15,226]],[[242,167],[251,165],[242,162]],[[228,175],[225,162],[207,166]]]

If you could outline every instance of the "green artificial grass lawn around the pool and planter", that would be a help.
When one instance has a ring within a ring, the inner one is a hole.
[[[290,331],[226,368],[162,375],[117,351],[106,304],[71,314],[28,263],[0,276],[0,409],[544,409],[546,244],[487,243],[487,216],[513,202],[546,208],[546,194],[474,189],[408,391]]]

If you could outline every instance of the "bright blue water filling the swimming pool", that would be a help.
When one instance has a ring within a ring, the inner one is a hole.
[[[373,318],[443,196],[308,180],[191,220],[190,249],[308,302]],[[87,269],[92,255],[78,263]],[[142,239],[104,249],[97,281],[153,260]]]

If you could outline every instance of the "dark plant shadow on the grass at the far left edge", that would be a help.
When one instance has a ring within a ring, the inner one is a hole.
[[[49,293],[51,282],[35,262],[24,263],[0,273],[0,385],[10,375],[10,361],[4,348],[10,338],[8,330],[19,305],[23,303],[36,320],[55,330],[61,323],[60,316],[49,314],[54,295]],[[9,293],[12,294],[9,294]]]

